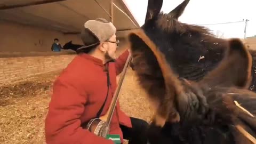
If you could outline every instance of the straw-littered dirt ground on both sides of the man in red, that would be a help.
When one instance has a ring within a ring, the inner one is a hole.
[[[44,143],[44,120],[51,99],[51,85],[60,71],[0,87],[0,143]],[[119,93],[121,109],[149,122],[152,110],[133,71],[127,70]]]

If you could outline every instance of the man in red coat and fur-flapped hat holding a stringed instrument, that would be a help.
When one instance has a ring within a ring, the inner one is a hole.
[[[116,28],[105,19],[85,22],[81,37],[84,46],[54,82],[49,112],[45,120],[47,144],[114,143],[83,129],[90,119],[105,115],[116,89],[116,76],[124,68],[129,55],[126,50],[115,60]],[[108,85],[109,84],[109,85]],[[109,90],[108,90],[109,89]],[[107,97],[108,96],[108,97]],[[121,141],[147,143],[147,122],[126,116],[117,102],[110,123],[110,134],[119,134]]]

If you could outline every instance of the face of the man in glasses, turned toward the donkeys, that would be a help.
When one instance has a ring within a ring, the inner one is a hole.
[[[105,43],[107,45],[105,58],[106,59],[116,59],[116,49],[117,49],[116,35],[113,35],[112,37],[110,37],[108,39],[108,41]]]

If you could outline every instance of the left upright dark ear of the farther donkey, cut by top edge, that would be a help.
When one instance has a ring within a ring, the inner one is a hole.
[[[162,9],[163,0],[148,0],[148,9],[147,14],[145,18],[145,23],[148,20],[153,19],[154,17],[157,17],[160,10]]]

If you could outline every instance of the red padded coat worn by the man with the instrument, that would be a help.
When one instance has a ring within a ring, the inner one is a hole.
[[[129,51],[126,50],[115,62],[109,63],[110,96],[115,92],[116,76],[122,72],[128,55]],[[102,61],[88,54],[77,55],[53,84],[52,99],[45,119],[46,143],[114,143],[81,127],[81,123],[95,118],[106,95],[107,75],[103,71]],[[107,113],[111,98],[108,97],[102,115]],[[132,127],[130,118],[117,102],[110,134],[120,134],[123,141],[119,124]]]

